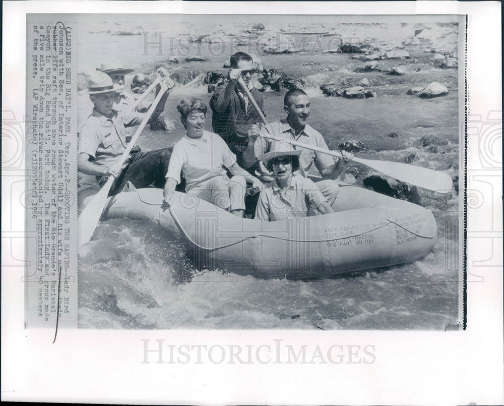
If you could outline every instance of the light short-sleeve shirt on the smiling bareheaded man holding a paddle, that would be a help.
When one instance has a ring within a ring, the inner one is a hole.
[[[287,138],[310,146],[328,149],[322,134],[310,127],[308,124],[297,137],[294,135],[294,130],[291,128],[287,120],[277,121],[263,126],[261,129],[261,135],[261,137],[258,137],[254,146],[254,152],[258,159],[261,155],[269,152],[275,142],[266,138],[267,136],[274,138]],[[298,148],[299,147],[296,147],[296,149]],[[334,165],[335,160],[328,154],[306,148],[301,148],[301,150],[301,156],[299,157],[299,174],[303,177],[306,177],[313,163],[319,172],[331,165]]]

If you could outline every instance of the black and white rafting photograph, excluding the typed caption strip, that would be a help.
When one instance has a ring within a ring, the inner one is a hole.
[[[462,326],[464,19],[385,20],[79,16],[79,327]]]

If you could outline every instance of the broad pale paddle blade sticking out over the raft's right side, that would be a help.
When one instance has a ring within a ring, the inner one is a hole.
[[[439,193],[448,193],[452,190],[453,181],[447,173],[410,165],[402,162],[378,161],[372,159],[354,158],[355,162],[377,170],[384,175],[395,178],[398,181],[419,186],[420,188],[433,190]]]

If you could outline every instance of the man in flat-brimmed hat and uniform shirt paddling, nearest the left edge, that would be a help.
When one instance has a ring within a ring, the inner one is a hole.
[[[166,99],[174,86],[169,77],[164,77],[163,81],[167,90],[149,122],[156,120],[164,110]],[[119,193],[128,181],[137,188],[148,187],[152,183],[162,188],[171,155],[170,148],[148,152],[132,151],[130,158],[122,165],[119,164],[118,159],[131,138],[125,129],[139,125],[145,116],[145,113],[117,112],[112,108],[115,92],[122,88],[122,85],[113,83],[110,76],[96,71],[91,77],[88,90],[82,92],[89,94],[94,108],[79,136],[78,168],[79,172],[87,175],[84,181],[80,179],[80,184],[102,184],[104,179],[113,176],[115,181],[109,196]]]

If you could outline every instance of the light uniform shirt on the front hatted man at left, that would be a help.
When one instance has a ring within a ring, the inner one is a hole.
[[[112,117],[107,118],[93,110],[81,129],[79,153],[92,156],[97,165],[111,166],[130,141],[125,129],[138,126],[143,117],[142,113],[117,113],[112,110]]]

